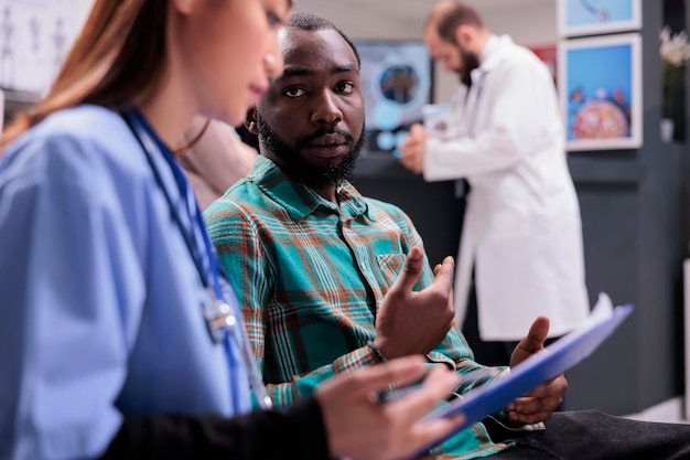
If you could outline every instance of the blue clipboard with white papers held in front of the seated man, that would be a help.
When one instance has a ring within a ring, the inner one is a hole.
[[[608,304],[602,306],[597,310],[601,303]],[[542,352],[533,354],[516,365],[505,377],[496,378],[485,386],[472,389],[461,398],[453,399],[450,405],[430,413],[428,418],[464,414],[465,421],[453,432],[438,439],[411,458],[428,453],[430,449],[451,436],[492,414],[496,414],[517,397],[581,363],[616,330],[633,310],[632,304],[613,308],[608,297],[600,295],[600,302],[592,310],[592,314],[584,325],[563,335]]]

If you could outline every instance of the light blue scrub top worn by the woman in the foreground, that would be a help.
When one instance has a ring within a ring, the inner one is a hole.
[[[98,457],[123,415],[249,410],[246,371],[213,342],[208,295],[117,113],[63,110],[6,150],[0,235],[0,458]]]

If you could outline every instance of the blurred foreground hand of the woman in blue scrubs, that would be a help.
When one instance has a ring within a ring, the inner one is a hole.
[[[391,460],[409,457],[451,432],[464,416],[433,421],[422,418],[460,384],[444,366],[427,374],[422,356],[409,356],[352,373],[337,374],[319,385],[331,458]],[[379,403],[374,394],[396,384],[424,377],[421,386],[400,399]]]

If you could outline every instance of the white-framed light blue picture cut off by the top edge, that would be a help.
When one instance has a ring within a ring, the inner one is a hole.
[[[634,31],[642,28],[642,0],[558,0],[562,36]]]

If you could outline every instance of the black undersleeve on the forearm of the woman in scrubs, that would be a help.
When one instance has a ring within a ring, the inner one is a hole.
[[[328,459],[315,398],[234,418],[160,415],[126,417],[103,460]]]

